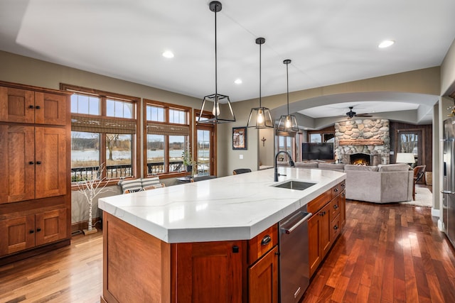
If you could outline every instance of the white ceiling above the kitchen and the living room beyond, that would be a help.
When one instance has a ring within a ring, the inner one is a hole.
[[[209,2],[0,0],[0,50],[202,98],[215,92]],[[262,96],[286,92],[284,59],[292,60],[293,92],[439,66],[455,38],[455,1],[449,0],[221,2],[218,92],[231,101],[259,96],[257,37],[266,38]],[[396,43],[379,49],[385,39]],[[162,57],[165,50],[175,57]],[[336,116],[351,105],[359,113],[361,106],[379,110],[356,101],[306,115]]]

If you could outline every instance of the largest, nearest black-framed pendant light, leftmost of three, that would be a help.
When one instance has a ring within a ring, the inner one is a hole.
[[[235,116],[232,111],[232,106],[228,96],[224,94],[218,94],[218,65],[217,65],[217,48],[216,48],[216,13],[221,11],[221,3],[219,1],[212,1],[208,5],[210,11],[215,13],[215,94],[205,96],[200,106],[200,113],[198,117],[198,123],[226,123],[234,122]],[[220,106],[220,104],[226,104],[227,106]],[[210,111],[213,118],[207,119],[203,117],[204,111]]]

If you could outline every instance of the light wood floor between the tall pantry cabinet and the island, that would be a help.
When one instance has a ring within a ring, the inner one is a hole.
[[[102,232],[0,267],[0,302],[100,302]]]

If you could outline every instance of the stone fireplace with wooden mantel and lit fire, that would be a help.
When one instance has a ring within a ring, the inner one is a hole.
[[[335,123],[335,159],[358,165],[387,164],[390,154],[389,120],[349,119]],[[366,164],[368,163],[368,164]]]

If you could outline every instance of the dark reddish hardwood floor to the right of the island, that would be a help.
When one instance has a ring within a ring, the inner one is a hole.
[[[309,302],[455,302],[455,250],[431,209],[346,201],[346,228]]]

